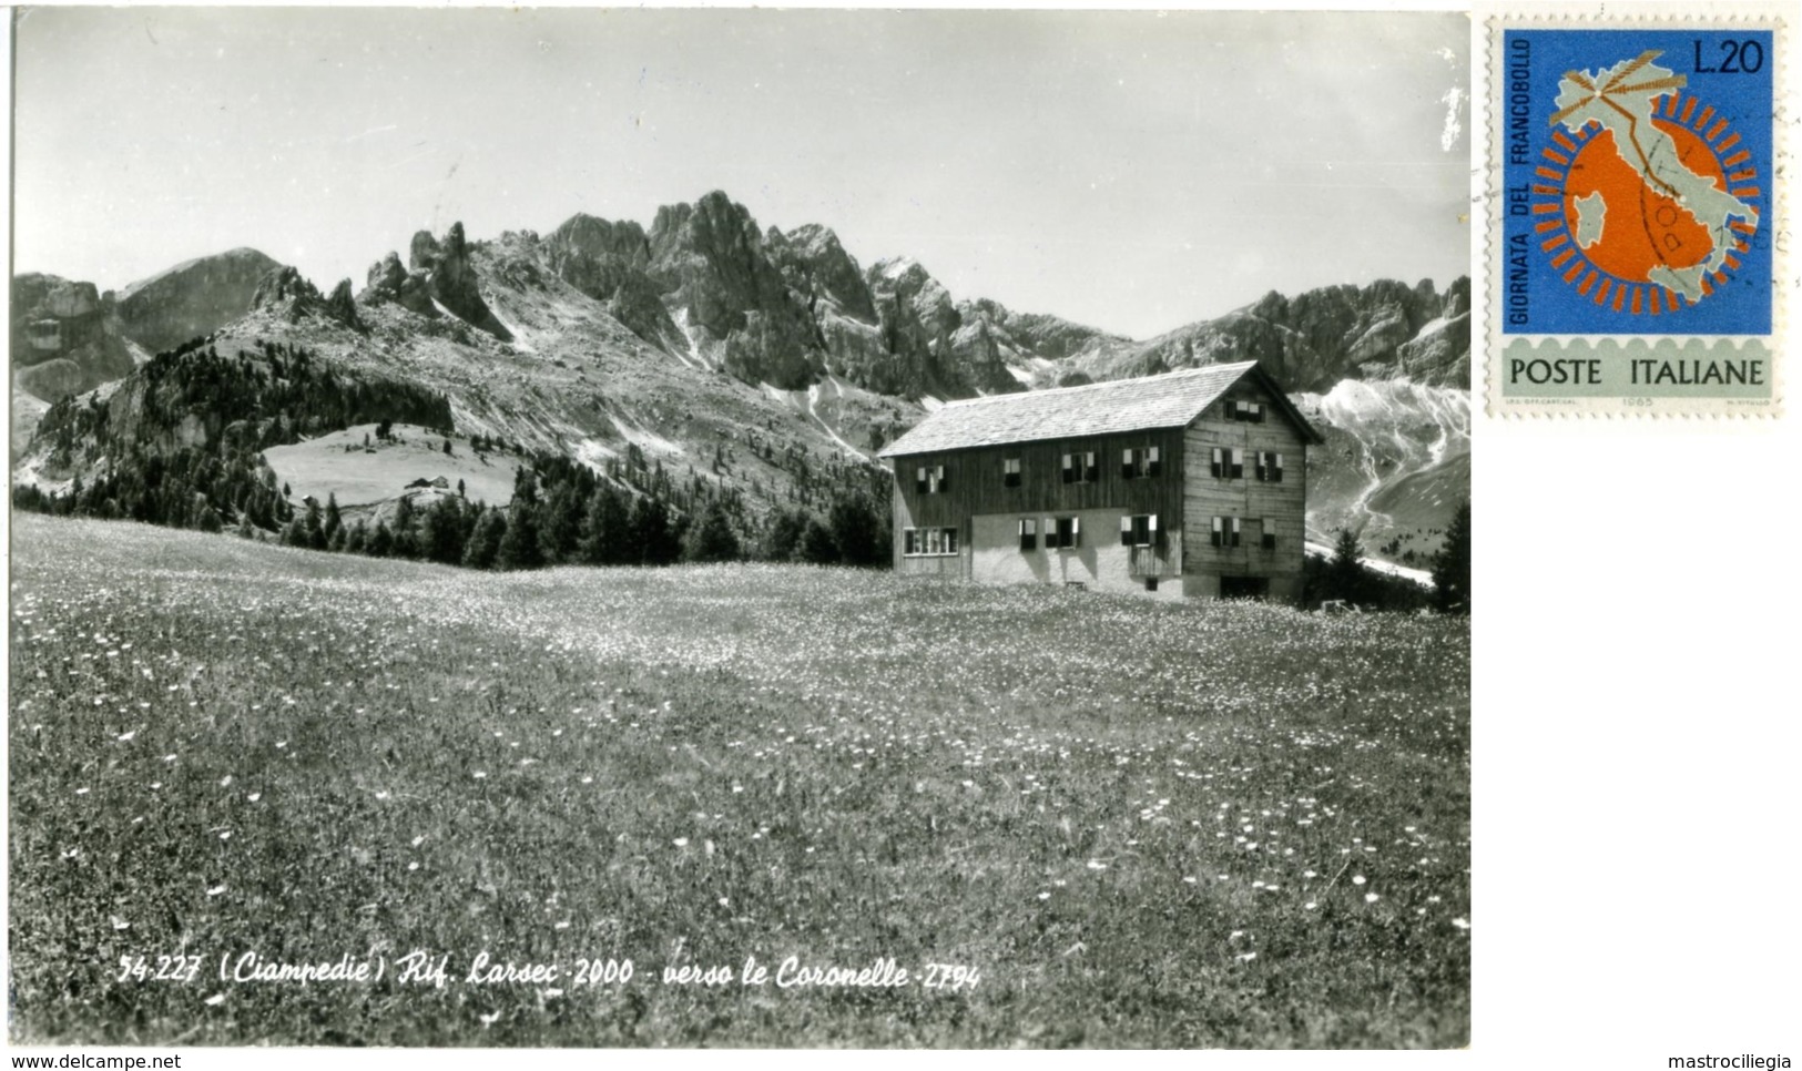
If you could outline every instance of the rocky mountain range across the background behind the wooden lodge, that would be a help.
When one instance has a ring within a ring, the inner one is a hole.
[[[265,270],[245,283],[252,267]],[[72,361],[43,346],[79,341],[88,362],[76,366],[85,371],[50,393],[114,409],[141,397],[144,373],[132,371],[132,357],[144,353],[123,334],[126,317],[108,319],[108,303],[92,290],[49,276],[16,279],[14,294],[29,298],[16,308],[31,314],[14,317],[14,352],[38,346],[36,368]],[[1328,436],[1310,471],[1315,537],[1352,526],[1371,552],[1418,559],[1469,490],[1465,279],[1443,294],[1433,283],[1270,294],[1135,343],[957,299],[912,258],[865,269],[829,227],[766,231],[741,204],[710,193],[665,206],[649,227],[577,215],[546,236],[469,240],[461,224],[443,236],[420,233],[405,260],[398,251],[377,260],[355,296],[348,281],[323,296],[294,269],[231,251],[137,283],[126,301],[132,330],[151,339],[205,325],[196,334],[225,362],[258,361],[270,346],[303,350],[346,377],[441,397],[454,424],[445,442],[454,438],[456,449],[483,436],[595,471],[654,467],[742,494],[751,514],[818,501],[829,481],[867,471],[883,442],[950,398],[1240,359],[1263,361],[1303,391],[1297,400]],[[45,316],[52,305],[68,316]],[[124,379],[106,379],[115,375]],[[29,424],[41,402],[27,407]],[[195,420],[204,440],[216,438],[209,416]],[[123,420],[115,433],[130,426]],[[321,436],[355,447],[357,435],[342,422],[321,424],[285,438],[267,460],[279,471],[305,454],[308,487],[337,463],[377,505],[393,465],[357,449],[337,460],[288,449]],[[83,449],[32,442],[16,480],[54,490],[85,469],[105,472],[121,449],[130,444],[117,435]],[[328,476],[317,483],[330,487]]]

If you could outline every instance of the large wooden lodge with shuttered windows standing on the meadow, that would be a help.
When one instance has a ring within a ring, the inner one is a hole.
[[[1296,602],[1321,442],[1254,361],[950,402],[879,453],[896,572]]]

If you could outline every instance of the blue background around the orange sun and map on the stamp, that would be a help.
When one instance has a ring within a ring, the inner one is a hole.
[[[1688,85],[1679,90],[1712,105],[1716,114],[1732,123],[1739,133],[1734,151],[1744,148],[1759,177],[1752,182],[1759,188],[1757,198],[1746,198],[1759,213],[1759,231],[1752,236],[1752,249],[1739,254],[1741,267],[1728,276],[1726,287],[1716,287],[1714,294],[1697,305],[1665,310],[1658,317],[1615,312],[1597,305],[1564,281],[1564,272],[1550,263],[1552,254],[1541,252],[1534,224],[1543,216],[1505,215],[1503,242],[1499,247],[1501,263],[1499,287],[1505,334],[1694,334],[1694,335],[1764,335],[1771,330],[1771,72],[1777,67],[1771,31],[1642,31],[1642,29],[1510,29],[1503,34],[1501,49],[1501,101],[1497,101],[1496,121],[1503,124],[1503,182],[1519,188],[1543,182],[1534,175],[1541,162],[1539,150],[1552,146],[1552,114],[1557,112],[1553,99],[1559,96],[1559,79],[1566,70],[1595,72],[1622,60],[1633,60],[1645,50],[1663,50],[1654,60],[1656,65],[1672,74],[1688,78]],[[1530,114],[1528,114],[1528,162],[1514,164],[1506,148],[1508,92],[1514,81],[1508,60],[1517,40],[1530,43]],[[1725,52],[1721,41],[1759,41],[1762,47],[1762,67],[1750,74],[1706,72],[1696,69],[1696,43],[1701,43],[1703,67],[1721,67]],[[1555,148],[1555,146],[1553,146]],[[1506,193],[1503,193],[1506,202]],[[1503,209],[1506,211],[1506,207]],[[1528,249],[1528,323],[1508,323],[1508,247],[1514,234],[1526,234]]]

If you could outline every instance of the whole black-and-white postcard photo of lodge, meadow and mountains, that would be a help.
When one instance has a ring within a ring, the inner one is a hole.
[[[1469,14],[11,32],[9,1044],[1470,1046]]]

